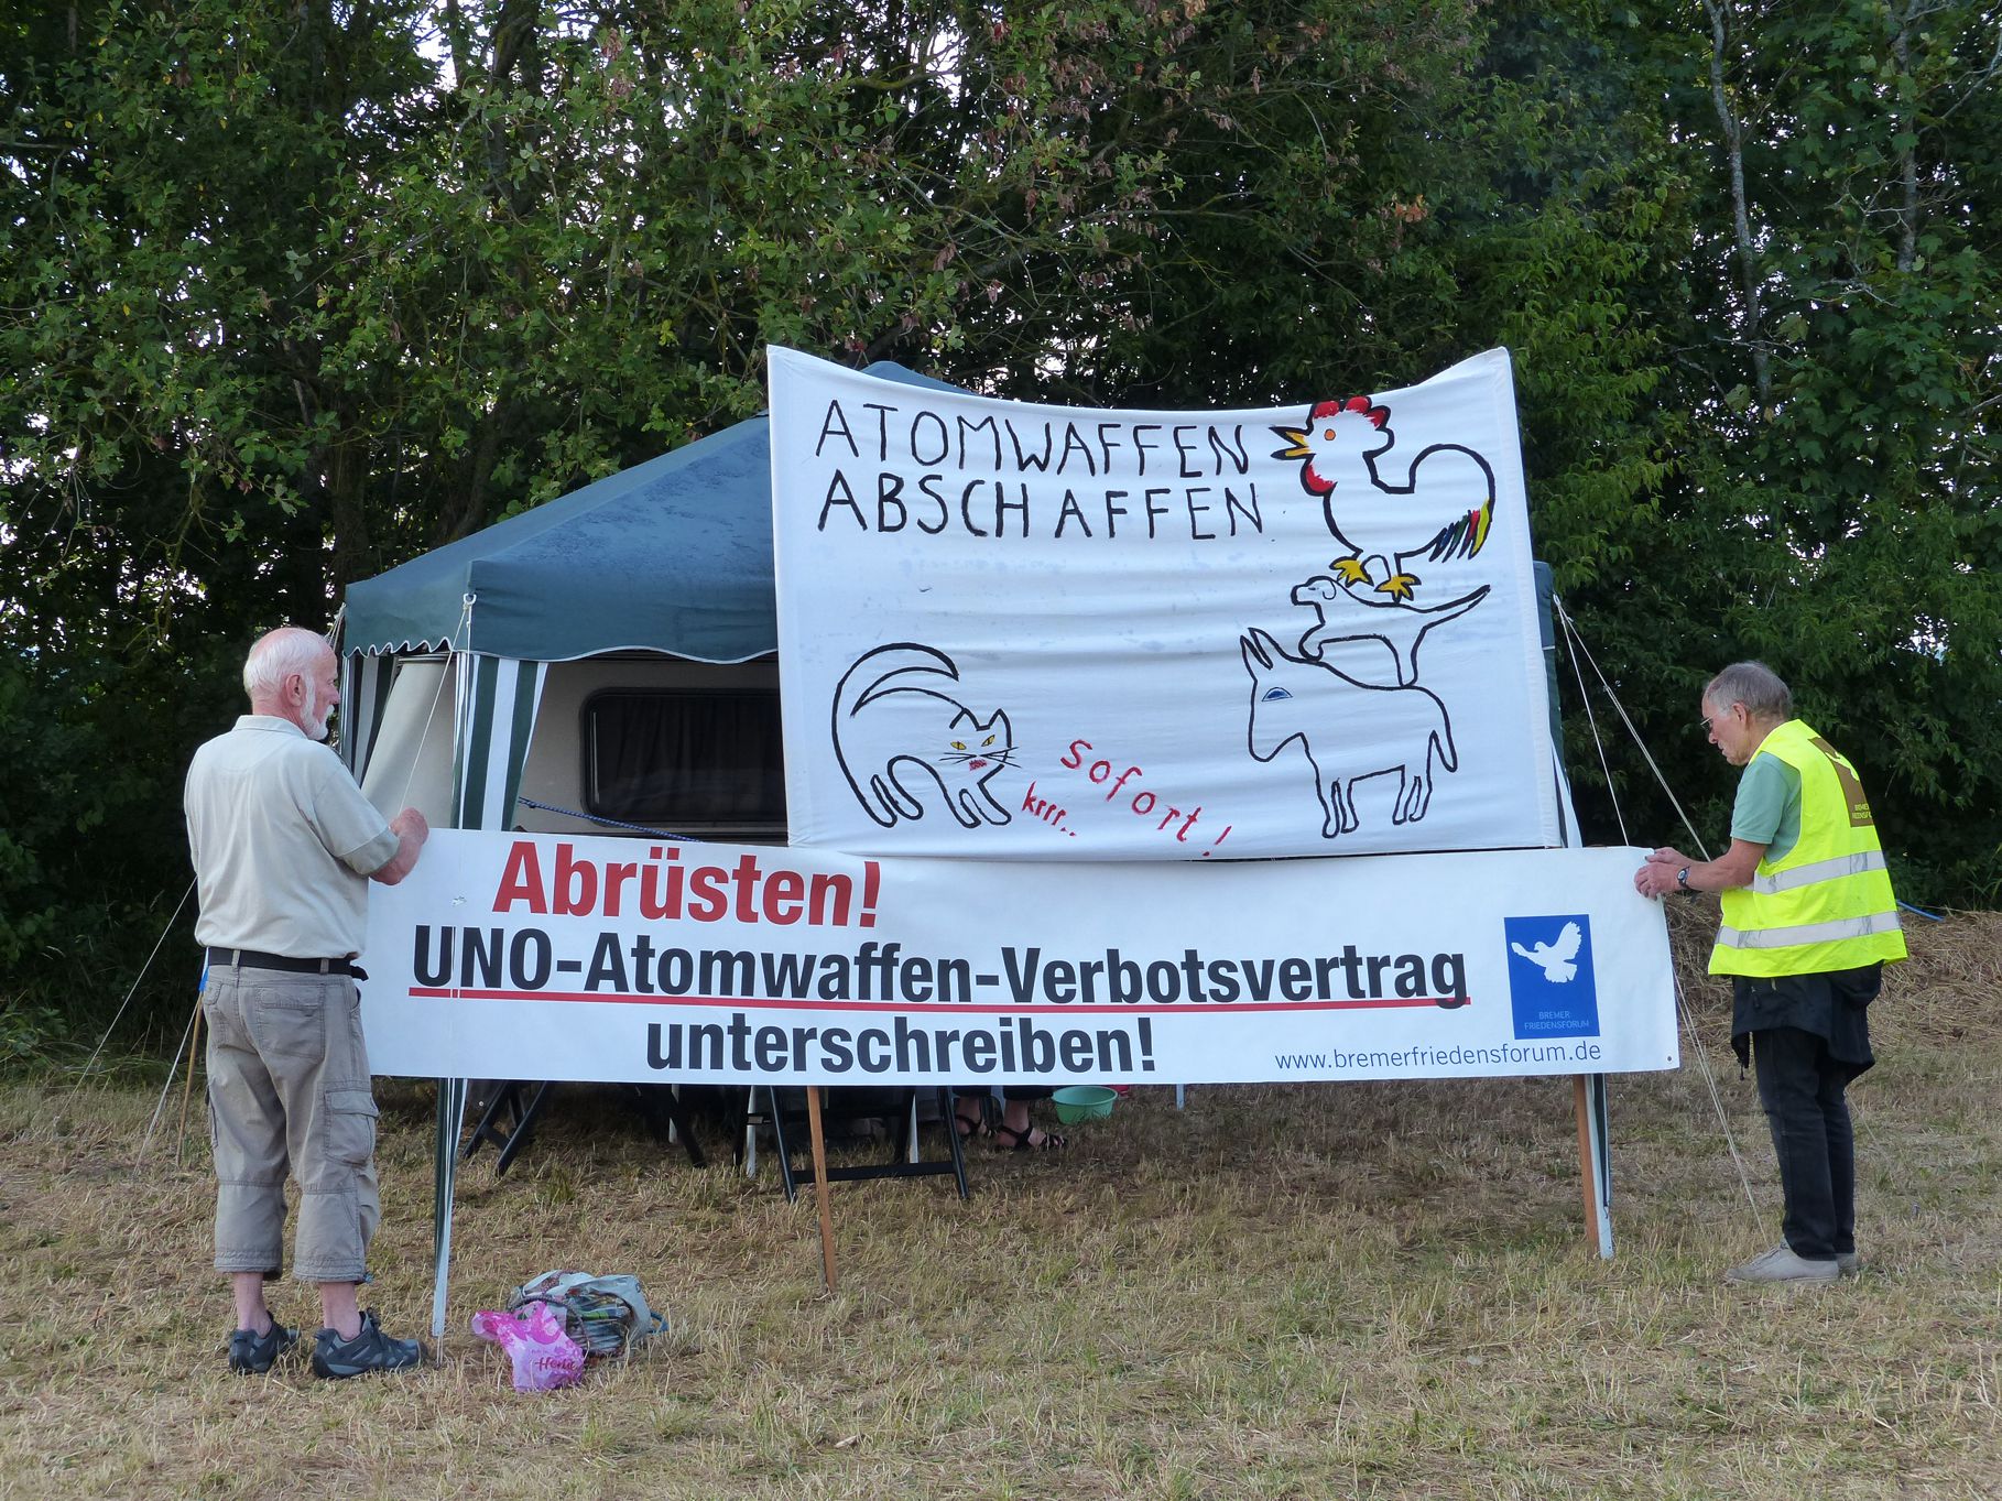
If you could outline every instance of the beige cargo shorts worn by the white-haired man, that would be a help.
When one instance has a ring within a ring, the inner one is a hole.
[[[346,975],[208,971],[216,1269],[278,1275],[284,1177],[298,1179],[292,1275],[358,1283],[382,1219],[360,991]]]

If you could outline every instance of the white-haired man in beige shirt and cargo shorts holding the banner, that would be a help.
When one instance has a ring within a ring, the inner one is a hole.
[[[416,1365],[358,1307],[380,1219],[374,1093],[354,959],[368,881],[396,885],[428,837],[386,821],[322,744],[340,702],[332,648],[310,630],[262,636],[244,662],[250,712],[188,767],[188,847],[206,947],[208,1115],[216,1157],[216,1269],[230,1275],[230,1369],[262,1373],[298,1339],[264,1303],[284,1249],[284,1179],[298,1179],[292,1275],[316,1283],[312,1369],[340,1379]]]

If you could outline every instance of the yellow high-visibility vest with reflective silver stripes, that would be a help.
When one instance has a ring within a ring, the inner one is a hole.
[[[1818,975],[1904,959],[1898,899],[1856,769],[1802,720],[1760,742],[1800,773],[1800,839],[1724,893],[1712,975]]]

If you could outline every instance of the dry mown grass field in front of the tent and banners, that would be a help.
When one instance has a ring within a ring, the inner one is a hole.
[[[1566,1081],[1141,1089],[1065,1155],[811,1195],[663,1151],[573,1091],[460,1177],[452,1333],[420,1373],[222,1367],[206,1133],[158,1091],[0,1087],[6,1497],[2002,1497],[2002,915],[1912,923],[1854,1091],[1852,1283],[1734,1289],[1778,1187],[1714,907],[1676,907],[1700,1071],[1614,1081],[1618,1257],[1588,1247]],[[1708,909],[1708,911],[1706,911]],[[1688,1047],[1688,1039],[1686,1039]],[[384,1083],[370,1289],[428,1319],[430,1095]],[[178,1095],[176,1095],[178,1099]],[[196,1105],[200,1115],[200,1105]],[[466,1333],[555,1265],[673,1321],[517,1395]],[[274,1305],[316,1323],[310,1295]]]

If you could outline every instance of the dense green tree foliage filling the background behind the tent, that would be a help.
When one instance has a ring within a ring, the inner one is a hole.
[[[755,412],[773,342],[1157,406],[1508,344],[1538,548],[1704,833],[1696,690],[1756,654],[1912,895],[2002,887],[1984,6],[76,0],[0,42],[0,995],[136,971],[256,628]],[[1570,732],[1590,831],[1668,837]]]

